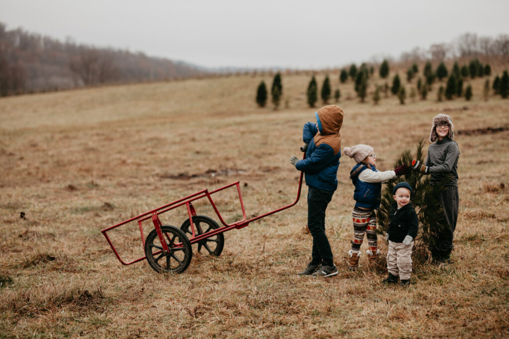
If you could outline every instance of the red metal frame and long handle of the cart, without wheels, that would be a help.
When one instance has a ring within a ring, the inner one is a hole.
[[[304,155],[304,159],[305,159],[305,155]],[[182,205],[185,205],[186,208],[187,208],[187,213],[189,215],[189,221],[190,221],[190,226],[191,226],[191,230],[192,230],[192,237],[189,239],[189,242],[191,244],[193,244],[193,243],[196,243],[196,242],[198,242],[198,241],[200,241],[202,239],[214,236],[214,235],[219,234],[219,233],[223,233],[223,232],[229,231],[229,230],[234,229],[234,228],[241,229],[243,227],[246,227],[247,225],[249,225],[249,223],[251,223],[253,221],[256,221],[256,220],[264,218],[264,217],[267,217],[270,214],[274,214],[276,212],[279,212],[279,211],[282,211],[284,209],[287,209],[287,208],[290,208],[290,207],[294,206],[299,201],[299,198],[300,198],[300,192],[302,190],[302,176],[303,176],[303,172],[300,173],[299,189],[297,191],[297,198],[295,199],[295,201],[293,203],[291,203],[289,205],[286,205],[284,207],[280,207],[280,208],[275,209],[273,211],[267,212],[265,214],[258,215],[257,217],[254,217],[254,218],[249,219],[249,220],[246,220],[246,211],[245,211],[245,208],[244,208],[244,202],[242,201],[242,195],[241,195],[241,192],[240,192],[240,184],[239,184],[239,181],[236,181],[236,182],[228,184],[227,186],[223,186],[223,187],[221,187],[219,189],[216,189],[214,191],[210,191],[209,192],[206,189],[206,190],[202,190],[202,191],[196,192],[196,193],[191,194],[191,195],[189,195],[189,196],[187,196],[185,198],[182,198],[182,199],[179,199],[179,200],[175,200],[174,202],[171,202],[171,203],[163,205],[161,207],[152,209],[152,210],[150,210],[148,212],[145,212],[143,214],[137,215],[136,217],[133,217],[133,218],[128,219],[128,220],[125,220],[125,221],[123,221],[123,222],[121,222],[119,224],[116,224],[116,225],[110,226],[108,228],[105,228],[101,232],[104,235],[104,237],[106,238],[106,240],[108,241],[109,245],[111,246],[111,249],[113,250],[113,252],[117,256],[117,259],[123,265],[134,264],[134,263],[136,263],[138,261],[142,261],[142,260],[146,259],[146,257],[138,258],[138,259],[133,260],[131,262],[124,262],[120,258],[120,255],[117,252],[117,250],[115,249],[115,246],[113,245],[113,243],[109,239],[108,235],[106,234],[108,231],[110,231],[112,229],[115,229],[115,228],[117,228],[119,226],[128,224],[130,222],[137,221],[137,223],[139,225],[139,231],[140,231],[141,236],[142,236],[142,245],[145,247],[145,237],[144,237],[144,234],[143,234],[142,222],[151,219],[152,223],[154,224],[154,228],[156,229],[157,235],[159,236],[159,240],[161,241],[161,245],[163,247],[163,252],[167,253],[168,252],[168,246],[166,244],[166,241],[163,241],[163,235],[162,235],[162,232],[161,232],[161,226],[162,225],[161,225],[161,221],[159,220],[159,214],[162,214],[162,213],[167,212],[169,210],[172,210],[174,208],[177,208],[177,207],[180,207]],[[222,191],[222,190],[228,189],[230,187],[233,187],[233,186],[237,187],[237,193],[238,193],[239,200],[240,200],[240,206],[242,207],[242,219],[239,220],[239,221],[236,221],[234,223],[227,224],[227,223],[224,222],[224,220],[223,220],[223,218],[221,216],[221,213],[217,209],[214,201],[212,200],[211,195],[214,194],[214,193],[217,193],[219,191]],[[195,231],[194,231],[194,224],[192,222],[192,217],[194,217],[196,215],[196,210],[194,209],[194,207],[192,205],[192,201],[195,201],[195,200],[198,200],[198,199],[202,199],[202,198],[205,198],[205,197],[207,197],[207,199],[209,200],[210,204],[214,208],[214,211],[215,211],[215,213],[217,215],[217,218],[219,218],[219,221],[221,222],[221,224],[223,226],[219,227],[217,229],[211,230],[209,232],[203,233],[201,235],[196,235]],[[179,244],[175,244],[175,245],[178,246]]]

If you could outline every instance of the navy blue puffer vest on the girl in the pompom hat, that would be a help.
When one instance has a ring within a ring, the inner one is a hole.
[[[359,179],[360,172],[369,170],[366,165],[358,163],[350,171],[350,178],[355,185],[353,198],[356,207],[364,207],[369,209],[378,209],[380,207],[380,198],[382,193],[382,184],[380,182],[365,182]],[[378,172],[372,167],[372,171]]]

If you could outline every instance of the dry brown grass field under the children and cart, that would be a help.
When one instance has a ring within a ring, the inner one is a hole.
[[[338,74],[330,76],[334,90]],[[103,228],[196,191],[239,180],[248,217],[295,199],[299,172],[289,159],[301,156],[302,126],[314,121],[310,74],[282,76],[276,111],[254,103],[262,79],[270,86],[268,75],[245,75],[0,99],[0,338],[509,337],[509,100],[485,101],[486,78],[470,81],[469,102],[437,102],[435,84],[426,101],[382,95],[375,106],[371,94],[360,103],[351,82],[340,87],[343,147],[371,144],[381,170],[428,140],[437,113],[453,118],[461,151],[453,264],[415,264],[409,288],[383,286],[386,271],[365,256],[357,272],[347,269],[354,161],[346,156],[326,219],[333,278],[296,275],[312,244],[305,186],[296,206],[224,233],[219,257],[194,248],[182,274],[119,263]],[[227,222],[240,219],[235,190],[213,198]],[[217,220],[206,201],[195,208]],[[185,213],[161,219],[180,227]],[[151,229],[144,224],[145,235]],[[136,224],[111,236],[125,260],[144,255]]]

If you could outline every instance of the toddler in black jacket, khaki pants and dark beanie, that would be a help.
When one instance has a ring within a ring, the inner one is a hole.
[[[410,202],[412,188],[408,182],[398,183],[392,192],[395,202],[390,207],[389,227],[385,235],[389,242],[387,251],[389,275],[382,283],[396,284],[399,276],[401,285],[408,286],[412,272],[413,240],[417,236],[419,220]]]

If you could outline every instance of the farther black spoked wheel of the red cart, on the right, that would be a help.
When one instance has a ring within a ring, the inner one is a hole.
[[[206,217],[205,215],[195,215],[192,217],[192,222],[194,224],[194,235],[200,235],[207,233],[211,230],[215,230],[219,228],[219,225],[211,218]],[[191,223],[189,219],[187,219],[180,229],[184,231],[188,238],[192,238],[192,230]],[[212,256],[218,257],[224,246],[224,235],[222,233],[213,235],[211,237],[205,238],[201,241],[198,241],[198,252],[201,253],[202,249],[205,249],[205,254],[210,254]]]

